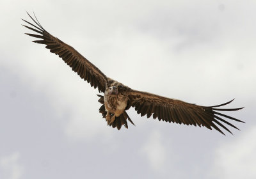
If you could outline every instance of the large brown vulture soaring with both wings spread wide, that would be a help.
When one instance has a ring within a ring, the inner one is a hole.
[[[209,129],[215,128],[221,134],[224,134],[223,129],[232,134],[226,126],[239,130],[239,128],[230,123],[230,120],[243,121],[221,113],[221,111],[243,109],[243,107],[220,108],[223,105],[230,104],[233,100],[220,105],[202,106],[129,88],[121,82],[107,77],[97,66],[79,54],[76,49],[48,33],[38,22],[36,16],[33,18],[29,15],[29,17],[35,24],[22,19],[28,23],[27,26],[22,26],[34,31],[34,33],[26,33],[26,35],[39,38],[40,40],[34,40],[33,42],[46,45],[46,49],[63,59],[84,81],[90,83],[93,88],[97,88],[100,93],[104,93],[103,96],[98,95],[99,102],[102,104],[99,112],[106,119],[109,126],[116,127],[119,130],[122,125],[128,128],[127,121],[134,125],[126,113],[128,109],[134,107],[141,116],[146,115],[147,118],[152,116],[152,118],[157,118],[159,121],[203,126]]]

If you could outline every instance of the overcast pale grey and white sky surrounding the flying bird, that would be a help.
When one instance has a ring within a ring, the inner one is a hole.
[[[18,1],[0,6],[0,178],[255,178],[256,1]],[[98,91],[20,24],[42,26],[133,89],[245,107],[216,130],[127,113],[116,130]]]

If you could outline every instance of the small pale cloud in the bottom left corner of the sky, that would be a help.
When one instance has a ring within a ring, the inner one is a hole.
[[[11,155],[0,159],[0,171],[3,178],[19,179],[24,173],[24,167],[19,164],[20,153],[14,152]]]

